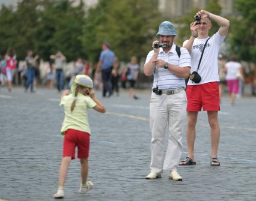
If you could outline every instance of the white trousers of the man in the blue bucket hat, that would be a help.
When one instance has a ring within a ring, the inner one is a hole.
[[[151,164],[150,170],[162,173],[163,170],[176,170],[183,146],[182,134],[186,118],[186,92],[173,95],[156,95],[150,100]],[[164,139],[168,127],[168,148],[164,154]]]

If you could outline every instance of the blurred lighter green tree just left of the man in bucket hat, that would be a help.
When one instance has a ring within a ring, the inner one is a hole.
[[[118,58],[129,61],[147,55],[159,22],[157,1],[102,0],[89,11],[82,40],[92,61],[99,58],[103,40],[111,43]]]

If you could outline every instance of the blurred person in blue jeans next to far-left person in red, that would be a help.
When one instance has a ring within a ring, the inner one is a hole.
[[[35,62],[38,59],[38,55],[33,58],[32,50],[28,50],[26,61],[26,86],[25,92],[28,91],[30,85],[30,92],[34,92],[34,79],[35,79]]]

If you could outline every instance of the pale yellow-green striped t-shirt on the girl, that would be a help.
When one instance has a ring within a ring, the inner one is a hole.
[[[65,118],[61,127],[61,134],[65,134],[69,128],[84,131],[91,134],[90,125],[88,122],[87,109],[96,106],[96,103],[89,96],[78,93],[76,106],[73,112],[71,112],[71,104],[74,100],[72,94],[64,95],[61,98],[60,106],[64,106]]]

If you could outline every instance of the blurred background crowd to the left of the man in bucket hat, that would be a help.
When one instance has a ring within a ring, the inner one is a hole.
[[[17,61],[14,50],[9,48],[0,60],[0,83],[1,86],[8,86],[10,92],[13,83],[23,85],[25,92],[29,89],[34,93],[38,83],[61,92],[70,89],[76,75],[85,74],[92,77],[95,89],[102,89],[103,97],[111,97],[113,94],[118,96],[121,86],[123,89],[129,88],[130,97],[138,99],[133,90],[139,75],[137,58],[133,56],[128,64],[120,62],[110,50],[107,41],[102,44],[102,53],[96,68],[81,57],[76,61],[67,62],[61,51],[50,55],[49,61],[43,61],[39,55],[34,55],[32,50],[28,50],[26,58]]]

